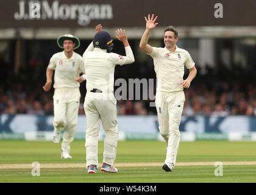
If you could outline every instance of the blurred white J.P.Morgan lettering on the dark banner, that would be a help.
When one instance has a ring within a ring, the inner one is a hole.
[[[73,3],[76,1],[73,1]],[[110,4],[62,4],[61,1],[19,1],[14,13],[16,20],[54,19],[77,20],[79,26],[87,26],[93,19],[112,19]]]

